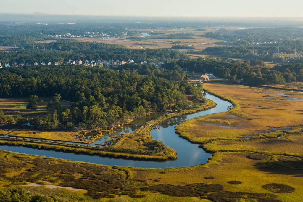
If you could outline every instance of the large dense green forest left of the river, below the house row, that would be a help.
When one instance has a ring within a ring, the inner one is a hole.
[[[186,109],[186,94],[202,98],[201,86],[189,84],[184,72],[152,65],[122,67],[116,71],[83,66],[3,68],[0,96],[30,97],[31,107],[39,103],[36,96],[52,96],[48,109],[55,112],[31,121],[43,129],[75,124],[103,128],[146,112]],[[74,102],[72,108],[63,109],[60,99]]]

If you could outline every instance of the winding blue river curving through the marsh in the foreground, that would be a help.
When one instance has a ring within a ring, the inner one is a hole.
[[[0,150],[34,154],[38,156],[54,157],[58,159],[66,159],[71,161],[82,161],[87,163],[97,163],[109,166],[129,166],[129,167],[141,167],[141,168],[166,168],[166,167],[191,167],[197,164],[206,163],[211,154],[206,153],[203,149],[199,148],[198,144],[192,144],[189,141],[179,137],[175,133],[175,126],[188,119],[204,116],[213,113],[220,113],[227,111],[227,106],[231,103],[224,101],[216,96],[207,93],[206,98],[213,100],[217,103],[217,106],[206,111],[197,112],[194,114],[179,116],[161,123],[161,130],[151,130],[151,135],[154,139],[161,140],[165,145],[174,149],[178,154],[177,160],[169,160],[165,162],[155,161],[143,161],[143,160],[125,160],[115,159],[109,157],[89,156],[75,153],[57,152],[52,150],[38,150],[22,146],[0,146]],[[138,123],[135,123],[138,124]],[[116,131],[117,133],[131,133],[139,126],[124,126],[123,129]],[[108,135],[96,140],[95,143],[103,143],[107,139]]]

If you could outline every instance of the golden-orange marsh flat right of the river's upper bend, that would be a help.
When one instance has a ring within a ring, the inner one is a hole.
[[[225,113],[198,117],[178,125],[177,132],[191,141],[239,140],[247,135],[258,137],[273,128],[302,125],[302,93],[213,83],[205,83],[203,87],[232,100],[236,106]]]

